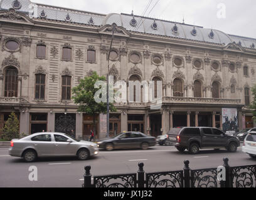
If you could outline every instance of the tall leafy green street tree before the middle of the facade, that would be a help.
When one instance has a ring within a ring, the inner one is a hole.
[[[106,81],[105,76],[99,76],[93,72],[91,76],[80,79],[80,84],[72,89],[75,104],[78,105],[78,112],[90,114],[93,116],[93,133],[96,133],[96,117],[98,114],[107,113],[107,103],[97,103],[94,99],[95,93],[99,89],[94,85],[97,81]],[[110,111],[115,112],[116,108],[110,103]]]

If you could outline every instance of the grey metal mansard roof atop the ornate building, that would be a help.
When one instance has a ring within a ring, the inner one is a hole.
[[[14,0],[1,0],[0,9],[13,8]],[[16,0],[17,1],[17,0]],[[71,22],[81,24],[93,24],[94,26],[104,26],[115,22],[117,26],[122,26],[130,32],[141,32],[146,34],[154,34],[159,36],[168,36],[174,38],[188,39],[193,41],[211,42],[215,44],[227,45],[235,42],[246,48],[256,48],[256,39],[248,37],[233,36],[225,32],[215,29],[205,29],[200,26],[191,26],[189,24],[182,24],[179,22],[164,21],[159,19],[152,19],[149,17],[134,16],[133,14],[97,14],[93,12],[78,11],[67,8],[59,8],[56,6],[48,6],[44,4],[35,4],[29,0],[18,0],[21,3],[21,8],[17,11],[29,14],[29,5],[32,3],[36,6],[35,18],[42,18],[41,13],[45,13],[46,19],[55,21],[68,21],[67,16],[70,17]],[[92,21],[90,22],[90,19]],[[134,21],[136,26],[132,26],[131,21]],[[156,24],[155,27],[152,24]],[[174,26],[178,28],[174,29]],[[195,32],[192,32],[192,31]],[[212,35],[210,35],[212,34]]]

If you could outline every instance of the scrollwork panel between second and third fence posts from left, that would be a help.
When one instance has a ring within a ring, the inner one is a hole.
[[[146,187],[183,187],[183,171],[146,174]]]

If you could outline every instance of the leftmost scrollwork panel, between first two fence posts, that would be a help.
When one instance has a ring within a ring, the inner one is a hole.
[[[95,187],[136,187],[136,174],[95,176]]]

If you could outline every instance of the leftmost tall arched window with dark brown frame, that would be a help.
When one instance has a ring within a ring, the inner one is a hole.
[[[13,67],[6,69],[4,82],[4,96],[18,97],[18,70]]]

